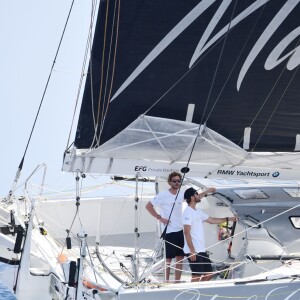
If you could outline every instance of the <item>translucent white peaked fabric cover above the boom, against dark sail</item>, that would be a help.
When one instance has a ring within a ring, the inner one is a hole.
[[[198,136],[199,133],[199,136]],[[195,143],[196,139],[196,143]],[[195,146],[194,146],[195,144]],[[247,152],[209,128],[142,115],[87,156],[239,164]]]

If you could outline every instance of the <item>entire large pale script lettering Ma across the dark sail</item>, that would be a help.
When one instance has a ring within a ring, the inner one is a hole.
[[[228,23],[225,27],[223,27],[215,36],[213,36],[210,40],[210,34],[213,32],[214,28],[218,24],[219,20],[226,12],[226,9],[232,3],[232,0],[224,0],[221,2],[217,12],[214,17],[208,24],[205,29],[196,49],[191,58],[189,68],[193,66],[193,64],[199,59],[199,57],[204,53],[209,47],[211,47],[218,39],[220,39],[226,32],[236,26],[238,23],[246,19],[250,14],[255,12],[258,8],[266,4],[270,0],[257,0],[252,3],[248,8],[242,11],[238,16],[236,16],[230,23]],[[124,89],[131,84],[131,82],[140,75],[148,66],[151,64],[157,56],[159,56],[186,28],[188,28],[204,11],[207,10],[212,4],[214,4],[216,0],[203,0],[201,1],[194,9],[192,9],[155,47],[154,49],[145,57],[145,59],[137,66],[137,68],[131,73],[131,75],[123,82],[120,88],[116,91],[114,96],[111,98],[113,101]],[[252,63],[259,55],[263,47],[266,45],[268,40],[272,37],[278,27],[282,24],[282,22],[286,19],[286,17],[291,13],[291,11],[295,8],[295,6],[300,2],[300,0],[287,0],[286,3],[282,6],[280,11],[276,14],[264,32],[261,34],[254,47],[251,49],[248,57],[246,58],[238,80],[237,80],[237,90],[240,89],[241,83],[251,67]],[[293,51],[286,54],[284,57],[280,58],[280,54],[282,54],[283,50],[287,47],[287,45],[299,35],[297,29],[291,32],[287,37],[285,37],[271,52],[266,63],[265,68],[267,70],[271,70],[276,67],[279,63],[281,63],[288,56],[290,58],[287,68],[292,70],[300,63],[300,49],[299,47],[294,49]]]

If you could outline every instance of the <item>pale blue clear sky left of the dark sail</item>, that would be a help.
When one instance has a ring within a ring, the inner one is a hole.
[[[23,157],[71,3],[71,0],[1,1],[0,197],[11,189]],[[74,176],[60,170],[78,93],[91,6],[92,0],[74,3],[20,184],[39,163],[45,163],[48,185],[74,188]],[[41,179],[40,173],[37,181]]]

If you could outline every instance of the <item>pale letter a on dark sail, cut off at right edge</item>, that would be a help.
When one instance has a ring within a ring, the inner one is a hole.
[[[286,58],[291,56],[290,60],[288,61],[286,67],[288,70],[293,70],[296,68],[300,63],[300,46],[295,48],[294,50],[290,51],[286,55],[282,56],[280,59],[282,52],[287,48],[287,46],[296,38],[299,38],[300,35],[300,27],[294,29],[290,34],[288,34],[270,53],[269,57],[265,63],[265,69],[271,70],[278,66],[282,61]]]

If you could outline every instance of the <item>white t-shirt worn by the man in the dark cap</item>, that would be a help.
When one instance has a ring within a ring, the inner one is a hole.
[[[201,210],[194,210],[193,208],[187,206],[182,215],[183,225],[191,225],[191,237],[195,251],[205,252],[205,237],[203,222],[206,221],[209,216]],[[190,248],[184,238],[184,253],[190,253]]]

